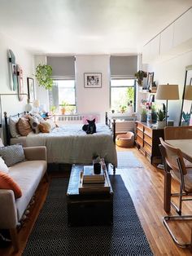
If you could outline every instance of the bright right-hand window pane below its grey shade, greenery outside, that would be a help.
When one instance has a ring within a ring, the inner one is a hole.
[[[135,79],[111,79],[111,109],[120,112],[121,107],[124,110],[128,104],[132,104],[135,111],[136,102],[136,81]]]

